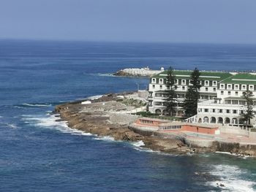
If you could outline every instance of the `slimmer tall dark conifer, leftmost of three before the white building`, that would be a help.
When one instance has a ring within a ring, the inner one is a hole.
[[[177,86],[175,85],[175,74],[173,74],[173,68],[170,66],[170,68],[167,70],[167,77],[166,77],[166,86],[167,86],[167,99],[165,102],[166,110],[170,116],[173,116],[173,114],[176,112],[176,106],[177,106],[177,94],[176,89]]]

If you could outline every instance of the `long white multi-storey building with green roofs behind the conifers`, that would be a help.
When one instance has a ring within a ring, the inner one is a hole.
[[[176,93],[178,104],[176,116],[184,115],[183,101],[189,86],[192,71],[174,70],[176,76]],[[197,115],[190,118],[193,122],[226,123],[238,125],[243,112],[245,101],[241,99],[242,93],[247,89],[256,96],[256,75],[247,73],[227,72],[200,72],[200,99]],[[149,83],[148,111],[165,115],[167,71],[151,77]],[[256,97],[254,98],[256,101]],[[255,109],[256,110],[256,109]],[[252,120],[254,123],[255,120]],[[241,120],[240,120],[241,123]]]

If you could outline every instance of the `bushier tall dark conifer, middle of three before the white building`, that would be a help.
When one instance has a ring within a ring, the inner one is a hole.
[[[199,99],[199,89],[201,87],[199,77],[200,72],[195,68],[190,75],[190,83],[192,85],[189,85],[184,100],[184,110],[187,118],[197,115],[197,102]]]

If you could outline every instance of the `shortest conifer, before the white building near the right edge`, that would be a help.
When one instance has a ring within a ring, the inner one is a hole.
[[[243,113],[241,114],[242,119],[244,122],[246,122],[246,126],[251,124],[251,119],[255,117],[254,111],[253,111],[253,100],[252,100],[253,94],[252,91],[244,91],[243,96],[241,96],[242,99],[245,100],[245,105],[243,106]]]

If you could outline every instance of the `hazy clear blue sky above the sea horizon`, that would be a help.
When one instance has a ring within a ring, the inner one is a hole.
[[[256,1],[0,0],[0,39],[256,43]]]

